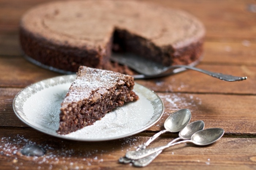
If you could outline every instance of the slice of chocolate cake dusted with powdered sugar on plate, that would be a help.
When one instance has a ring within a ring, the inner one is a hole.
[[[58,134],[69,134],[100,120],[128,101],[138,100],[133,77],[108,70],[80,66],[61,103]]]

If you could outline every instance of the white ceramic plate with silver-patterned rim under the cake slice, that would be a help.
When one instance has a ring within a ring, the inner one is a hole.
[[[60,103],[75,76],[72,74],[49,78],[27,86],[15,96],[14,112],[20,120],[38,131],[80,141],[103,141],[131,136],[151,127],[163,114],[163,103],[157,94],[135,84],[134,91],[139,96],[138,101],[116,108],[93,125],[68,135],[59,135],[56,130],[59,128]]]

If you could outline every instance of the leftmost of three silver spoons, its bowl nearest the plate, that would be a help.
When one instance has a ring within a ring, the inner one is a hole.
[[[152,136],[146,143],[139,146],[136,151],[140,149],[145,149],[151,142],[158,138],[161,134],[166,132],[178,132],[182,130],[190,121],[191,119],[191,112],[188,109],[180,109],[177,112],[174,112],[172,115],[167,117],[164,123],[165,130],[162,130]],[[131,160],[125,157],[121,157],[118,160],[120,163],[130,163]]]

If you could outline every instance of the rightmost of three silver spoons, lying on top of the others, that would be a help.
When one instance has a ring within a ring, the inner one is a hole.
[[[128,151],[126,152],[125,156],[126,158],[137,160],[180,143],[191,142],[196,145],[204,146],[204,145],[208,145],[215,142],[216,140],[221,138],[223,134],[224,134],[224,130],[222,128],[209,128],[209,129],[196,132],[195,134],[192,135],[191,140],[182,140],[176,143],[170,142],[165,146],[144,149],[139,151]]]

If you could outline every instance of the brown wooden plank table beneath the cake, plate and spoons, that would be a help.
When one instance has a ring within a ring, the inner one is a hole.
[[[173,76],[138,80],[163,100],[164,114],[153,127],[137,135],[107,142],[78,142],[43,134],[22,123],[12,101],[27,85],[61,74],[23,58],[18,24],[27,9],[48,0],[0,0],[0,169],[135,169],[118,163],[127,150],[163,130],[167,116],[188,108],[191,121],[220,127],[223,138],[206,147],[181,144],[165,150],[144,169],[256,169],[256,1],[151,0],[184,9],[206,26],[204,58],[199,68],[247,76],[225,82],[188,70]],[[146,1],[146,0],[145,0]],[[162,135],[153,146],[166,144],[177,133]],[[42,157],[20,153],[27,144],[45,147]]]

